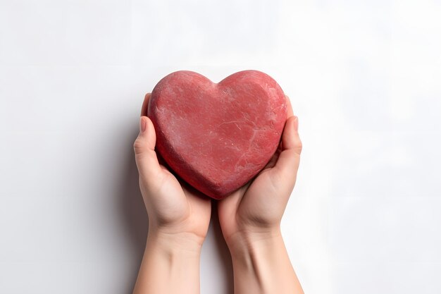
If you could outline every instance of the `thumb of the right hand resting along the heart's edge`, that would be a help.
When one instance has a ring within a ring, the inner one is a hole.
[[[287,119],[282,133],[282,151],[271,170],[274,176],[293,178],[294,180],[297,176],[300,154],[302,153],[302,141],[299,137],[298,127],[299,119],[297,116],[291,116]]]

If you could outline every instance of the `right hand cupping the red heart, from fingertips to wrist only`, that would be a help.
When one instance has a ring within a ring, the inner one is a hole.
[[[230,250],[254,238],[280,235],[280,221],[294,188],[302,141],[298,118],[290,99],[287,121],[278,151],[267,166],[247,185],[218,202],[219,222]]]

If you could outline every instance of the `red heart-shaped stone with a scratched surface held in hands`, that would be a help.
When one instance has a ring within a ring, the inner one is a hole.
[[[240,71],[213,83],[177,71],[151,92],[156,151],[182,179],[214,199],[242,187],[273,156],[287,119],[273,78]]]

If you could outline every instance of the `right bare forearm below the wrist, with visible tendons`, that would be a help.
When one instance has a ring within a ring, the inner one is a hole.
[[[237,235],[230,245],[235,294],[303,293],[280,231]]]

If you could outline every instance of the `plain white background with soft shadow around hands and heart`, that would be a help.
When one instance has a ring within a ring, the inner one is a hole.
[[[440,52],[439,0],[2,0],[0,293],[131,292],[139,110],[182,69],[290,95],[282,233],[306,293],[441,293]],[[213,221],[201,293],[232,293],[231,271]]]

